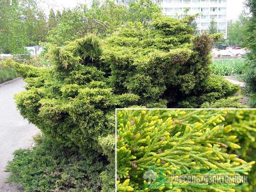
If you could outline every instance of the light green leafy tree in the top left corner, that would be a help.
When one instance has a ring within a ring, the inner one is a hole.
[[[29,44],[44,41],[46,18],[33,0],[1,0],[0,49],[4,53],[22,53]]]

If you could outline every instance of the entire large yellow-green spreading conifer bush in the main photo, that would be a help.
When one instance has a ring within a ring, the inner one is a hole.
[[[101,160],[98,190],[113,191],[115,108],[166,108],[198,96],[207,102],[237,90],[210,76],[212,39],[194,36],[192,20],[160,16],[148,27],[128,23],[104,40],[87,35],[47,47],[52,67],[15,64],[27,82],[15,96],[17,108],[53,143]],[[200,107],[201,102],[193,102]]]

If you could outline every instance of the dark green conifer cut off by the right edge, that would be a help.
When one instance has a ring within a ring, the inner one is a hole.
[[[246,42],[250,49],[247,54],[247,65],[249,67],[247,77],[247,92],[250,95],[250,104],[256,107],[256,0],[247,0],[246,6],[250,9],[250,17],[246,25]]]

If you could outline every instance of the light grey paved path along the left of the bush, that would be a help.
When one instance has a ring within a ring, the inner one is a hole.
[[[39,129],[20,116],[13,99],[15,93],[24,90],[22,79],[0,85],[0,192],[21,192],[12,183],[5,183],[9,173],[4,172],[12,153],[19,148],[31,147],[32,137]]]

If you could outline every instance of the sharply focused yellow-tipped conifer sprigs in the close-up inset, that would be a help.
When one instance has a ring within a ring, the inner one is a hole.
[[[230,184],[223,183],[201,183],[201,186],[170,183],[172,175],[248,174],[255,162],[246,163],[236,154],[225,151],[241,148],[234,143],[236,136],[228,135],[233,134],[232,126],[225,122],[224,116],[231,113],[224,110],[118,110],[117,190],[235,192]]]

